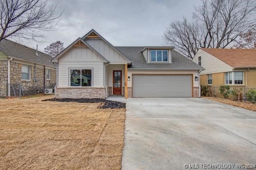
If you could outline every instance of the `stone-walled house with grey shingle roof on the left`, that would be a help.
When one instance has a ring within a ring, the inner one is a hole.
[[[11,40],[0,42],[0,96],[43,92],[56,85],[56,65],[52,57]],[[9,85],[8,85],[9,84]]]

